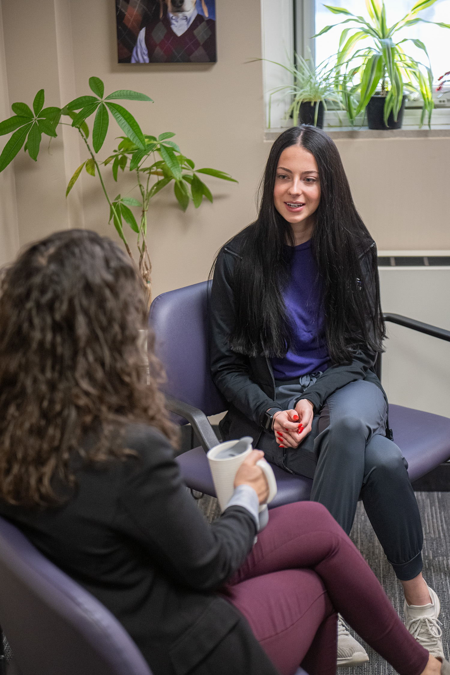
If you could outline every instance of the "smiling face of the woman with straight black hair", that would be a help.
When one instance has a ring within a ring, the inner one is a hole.
[[[313,225],[313,214],[320,202],[320,181],[314,155],[301,145],[291,145],[281,153],[273,201],[288,223],[309,220],[308,225]]]

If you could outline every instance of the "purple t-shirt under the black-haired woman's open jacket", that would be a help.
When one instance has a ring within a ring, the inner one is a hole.
[[[312,257],[311,242],[293,249],[291,278],[283,291],[287,317],[291,321],[293,347],[284,358],[271,358],[275,379],[288,380],[316,371],[329,364],[327,341],[320,309],[317,263]]]

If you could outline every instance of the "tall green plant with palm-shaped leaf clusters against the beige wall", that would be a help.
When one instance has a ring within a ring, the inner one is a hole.
[[[11,108],[16,115],[0,123],[0,136],[13,132],[0,155],[0,172],[16,157],[23,146],[30,157],[36,161],[42,134],[47,134],[51,138],[57,136],[57,127],[60,124],[67,124],[78,130],[86,145],[89,157],[78,167],[69,180],[65,196],[67,197],[74,187],[83,168],[90,175],[98,176],[109,204],[109,222],[113,221],[115,229],[117,229],[132,260],[134,260],[134,256],[123,232],[123,222],[127,223],[138,234],[139,261],[137,264],[146,285],[148,302],[150,302],[152,266],[146,244],[146,234],[148,208],[152,197],[173,181],[175,197],[181,209],[186,211],[190,201],[194,202],[194,207],[198,209],[203,197],[213,202],[213,195],[208,186],[200,180],[199,173],[213,175],[223,180],[237,181],[231,178],[231,175],[219,171],[219,169],[196,169],[192,159],[183,155],[177,144],[173,140],[169,140],[175,134],[165,132],[159,134],[158,138],[143,134],[130,111],[118,103],[114,103],[114,101],[121,99],[152,101],[146,94],[123,89],[104,97],[105,87],[100,78],[96,77],[89,78],[89,86],[92,92],[96,94],[95,96],[79,97],[67,103],[63,108],[44,108],[45,94],[43,89],[40,89],[34,97],[34,112],[26,103],[13,103]],[[90,131],[86,119],[94,113],[96,114],[92,126],[92,137],[89,139]],[[101,161],[97,157],[97,153],[105,142],[109,127],[109,113],[113,115],[125,136],[119,136],[120,142],[117,148],[107,159]],[[72,122],[61,121],[61,118],[65,116],[69,117]],[[136,198],[132,194],[123,196],[118,194],[115,198],[110,198],[101,171],[101,166],[105,167],[109,164],[111,164],[113,178],[116,182],[119,168],[121,171],[125,171],[128,167],[130,171],[134,172],[137,184],[131,192],[136,191],[140,198]],[[137,219],[131,210],[132,208],[140,211]]]

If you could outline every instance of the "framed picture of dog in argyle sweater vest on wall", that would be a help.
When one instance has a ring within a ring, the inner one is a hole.
[[[215,0],[115,0],[119,63],[215,63]]]

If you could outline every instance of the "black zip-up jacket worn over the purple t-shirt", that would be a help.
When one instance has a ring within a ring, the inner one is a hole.
[[[233,277],[235,263],[240,258],[240,239],[240,235],[237,235],[223,246],[215,265],[209,309],[210,367],[215,385],[229,403],[227,415],[220,425],[224,439],[250,435],[254,438],[255,447],[256,445],[260,447],[262,434],[266,433],[262,428],[264,412],[270,408],[284,410],[285,407],[277,403],[275,379],[269,358],[262,354],[256,357],[237,354],[229,346],[229,335],[235,323]],[[368,252],[373,246],[375,242],[372,242],[360,256],[361,284],[371,285]],[[367,347],[355,352],[351,364],[331,365],[316,383],[308,387],[304,394],[299,394],[292,400],[291,408],[294,408],[302,398],[307,398],[314,406],[314,413],[318,414],[331,394],[348,383],[360,379],[378,386],[383,391],[387,402],[385,391],[374,371],[376,356],[376,352]],[[389,418],[387,436],[391,437]],[[299,446],[300,453],[298,454],[301,454],[303,446],[304,443]],[[309,448],[308,456],[310,452],[312,448]],[[316,460],[317,458],[315,462]],[[287,468],[281,457],[273,457],[271,461]],[[304,473],[304,475],[311,474],[310,469],[304,472],[300,468],[302,466],[297,466],[295,472]]]

